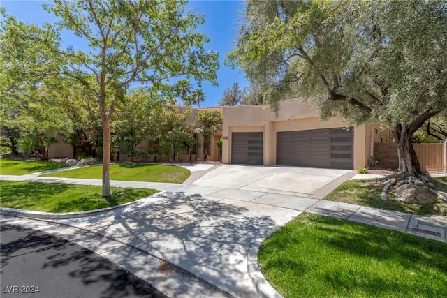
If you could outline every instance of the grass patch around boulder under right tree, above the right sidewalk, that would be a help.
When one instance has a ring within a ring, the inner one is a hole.
[[[383,186],[375,184],[376,179],[349,180],[335,188],[325,200],[358,204],[361,206],[375,207],[400,211],[425,216],[428,214],[447,216],[447,202],[439,200],[436,204],[421,206],[417,204],[405,204],[393,200],[393,195],[387,194],[388,200],[381,199]],[[437,189],[447,191],[447,177],[435,179]]]

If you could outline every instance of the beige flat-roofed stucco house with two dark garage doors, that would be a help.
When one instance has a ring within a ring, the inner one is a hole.
[[[221,110],[223,116],[222,131],[212,136],[208,161],[356,170],[374,165],[375,144],[394,143],[390,131],[382,131],[379,125],[349,126],[339,117],[321,121],[301,98],[282,101],[277,115],[268,105],[196,108],[193,109],[190,121],[196,118],[199,110],[207,109]],[[196,137],[199,142],[203,141],[201,135]],[[215,144],[220,138],[223,139],[221,154]],[[149,153],[151,146],[149,141],[142,142],[140,151]],[[50,148],[50,157],[71,157],[71,151],[70,145],[57,142]],[[439,163],[443,163],[441,170],[445,171],[446,142],[441,151],[444,157]],[[124,158],[120,157],[120,160],[125,161],[125,154],[121,156]],[[203,147],[193,152],[179,152],[176,159],[201,161]],[[147,158],[138,158],[138,161],[154,160],[151,154],[147,154]],[[169,157],[161,156],[156,160],[169,161]]]

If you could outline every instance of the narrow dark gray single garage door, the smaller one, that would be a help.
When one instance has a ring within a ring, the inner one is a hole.
[[[231,163],[262,165],[263,133],[232,133]]]

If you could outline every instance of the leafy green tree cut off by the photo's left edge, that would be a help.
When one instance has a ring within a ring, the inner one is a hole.
[[[18,154],[20,134],[24,131],[19,119],[24,94],[30,88],[59,75],[61,59],[52,51],[59,47],[60,38],[50,24],[39,28],[17,21],[0,6],[0,120],[1,133],[8,137],[13,154]],[[38,124],[38,122],[36,122]],[[44,157],[45,158],[45,157]]]

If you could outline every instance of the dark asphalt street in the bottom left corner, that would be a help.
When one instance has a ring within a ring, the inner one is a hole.
[[[1,225],[0,296],[166,297],[145,281],[70,241]]]

